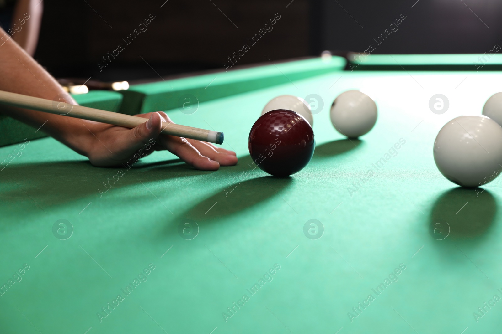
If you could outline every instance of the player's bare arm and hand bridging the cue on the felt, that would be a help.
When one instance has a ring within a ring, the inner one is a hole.
[[[0,36],[4,33],[0,29]],[[58,102],[62,94],[66,95],[57,81],[12,38],[0,45],[0,90]],[[45,133],[87,156],[96,166],[115,166],[129,161],[152,139],[155,145],[148,153],[168,150],[197,169],[216,170],[220,165],[237,163],[234,152],[198,140],[161,135],[161,122],[171,122],[163,112],[136,115],[149,121],[134,129],[6,106],[0,106],[0,113],[35,128],[47,121],[42,128]]]

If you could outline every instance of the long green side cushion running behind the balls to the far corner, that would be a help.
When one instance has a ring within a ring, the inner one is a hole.
[[[121,91],[120,112],[132,115],[185,106],[190,113],[201,102],[341,71],[345,64],[345,59],[333,56],[133,85]]]

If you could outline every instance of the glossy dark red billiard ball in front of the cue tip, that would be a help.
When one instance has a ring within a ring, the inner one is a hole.
[[[253,164],[275,176],[302,170],[314,154],[314,131],[299,114],[286,109],[262,115],[249,132]]]

